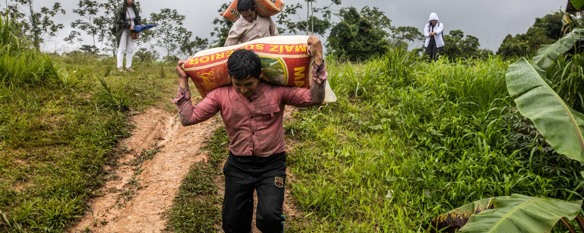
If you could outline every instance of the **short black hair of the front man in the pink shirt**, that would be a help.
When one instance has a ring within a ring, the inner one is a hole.
[[[241,82],[248,75],[259,79],[261,72],[262,63],[258,54],[253,50],[246,50],[245,48],[235,50],[227,59],[227,73],[232,79],[237,79],[238,82]]]

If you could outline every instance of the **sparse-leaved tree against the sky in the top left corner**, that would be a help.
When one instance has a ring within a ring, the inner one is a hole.
[[[52,18],[55,15],[65,14],[61,3],[53,3],[53,7],[41,8],[40,12],[34,10],[34,0],[11,0],[2,10],[3,15],[8,15],[12,19],[20,21],[20,32],[22,36],[29,38],[33,46],[40,50],[40,45],[44,42],[46,34],[57,36],[57,31],[63,29],[63,24],[55,23]]]

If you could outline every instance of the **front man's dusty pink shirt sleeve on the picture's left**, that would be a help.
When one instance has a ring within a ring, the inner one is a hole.
[[[206,121],[219,112],[219,104],[216,91],[211,91],[197,105],[193,106],[190,98],[189,86],[185,89],[178,87],[176,97],[172,103],[176,104],[176,110],[179,113],[180,124],[183,126],[195,125]]]

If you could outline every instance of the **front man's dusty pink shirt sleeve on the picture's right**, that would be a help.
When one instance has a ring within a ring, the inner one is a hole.
[[[309,107],[322,104],[325,100],[326,66],[312,63],[312,84],[309,90],[300,87],[281,86],[284,103],[296,107]]]

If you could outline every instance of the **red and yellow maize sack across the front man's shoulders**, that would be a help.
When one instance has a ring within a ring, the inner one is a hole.
[[[228,47],[211,48],[197,52],[182,65],[193,80],[201,97],[220,86],[231,84],[227,73],[227,59],[233,51],[245,48],[258,54],[263,79],[273,84],[310,89],[312,61],[307,51],[308,36],[273,36]],[[336,101],[326,82],[326,102]]]

